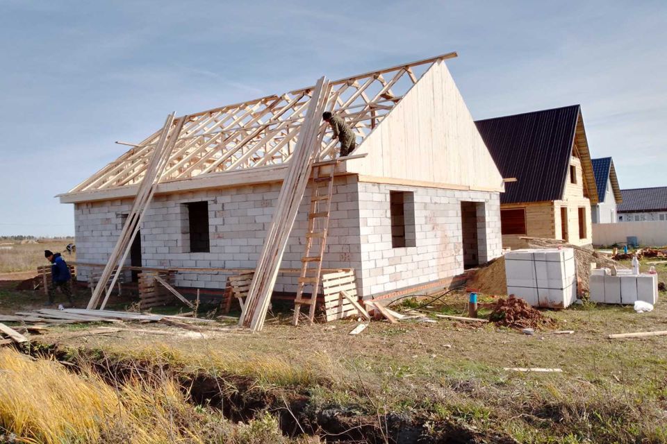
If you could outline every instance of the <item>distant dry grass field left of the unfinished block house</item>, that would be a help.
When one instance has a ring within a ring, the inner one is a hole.
[[[0,249],[0,273],[16,273],[18,271],[37,271],[38,266],[49,265],[44,259],[44,250],[61,253],[66,261],[74,261],[76,254],[71,256],[65,251],[65,246],[74,242],[73,238],[39,239],[37,244],[22,244],[21,241],[2,241]],[[10,244],[11,245],[5,245]],[[11,248],[9,248],[11,247]]]

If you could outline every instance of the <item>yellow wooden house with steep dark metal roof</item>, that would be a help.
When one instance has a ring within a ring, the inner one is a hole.
[[[591,204],[598,203],[579,105],[476,121],[502,177],[502,245],[521,237],[592,244]]]

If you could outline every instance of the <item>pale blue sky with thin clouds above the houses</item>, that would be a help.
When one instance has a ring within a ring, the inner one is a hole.
[[[458,51],[475,119],[580,103],[622,188],[667,185],[667,2],[0,0],[0,235],[165,115]]]

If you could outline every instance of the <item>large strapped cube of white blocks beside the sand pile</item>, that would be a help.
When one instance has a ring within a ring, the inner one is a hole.
[[[507,294],[533,307],[565,308],[577,298],[572,248],[513,250],[505,254]]]

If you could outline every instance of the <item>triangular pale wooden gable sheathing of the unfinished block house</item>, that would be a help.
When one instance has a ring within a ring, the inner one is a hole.
[[[436,62],[354,154],[360,180],[502,191],[502,176],[444,62]]]

